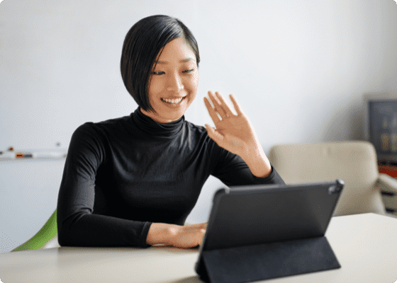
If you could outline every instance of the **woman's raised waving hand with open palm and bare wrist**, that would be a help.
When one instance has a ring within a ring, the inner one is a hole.
[[[213,129],[213,127],[206,125],[208,136],[218,146],[240,156],[250,167],[253,175],[257,177],[269,175],[272,171],[269,159],[259,144],[250,120],[242,112],[235,98],[230,94],[230,100],[237,114],[230,110],[220,93],[216,92],[214,95],[211,91],[208,91],[208,96],[209,100],[205,97],[204,103],[216,127],[216,129]]]

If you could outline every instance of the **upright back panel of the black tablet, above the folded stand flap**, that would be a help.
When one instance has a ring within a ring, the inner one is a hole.
[[[344,185],[335,180],[220,188],[213,195],[196,272],[203,271],[206,251],[324,236]]]

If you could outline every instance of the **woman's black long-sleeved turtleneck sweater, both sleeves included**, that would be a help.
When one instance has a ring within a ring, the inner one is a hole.
[[[160,124],[138,108],[86,122],[70,141],[57,202],[60,246],[139,246],[153,222],[183,225],[209,175],[225,185],[284,184],[252,175],[184,117]]]

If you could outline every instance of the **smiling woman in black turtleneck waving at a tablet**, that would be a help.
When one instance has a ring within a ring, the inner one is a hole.
[[[139,107],[72,135],[57,202],[61,246],[191,248],[206,223],[184,221],[209,175],[226,185],[284,184],[233,96],[237,115],[219,93],[204,98],[216,129],[184,120],[199,62],[176,18],[150,16],[129,30],[121,74]]]

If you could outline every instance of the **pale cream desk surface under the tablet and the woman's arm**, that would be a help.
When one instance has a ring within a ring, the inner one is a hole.
[[[332,217],[325,233],[340,265],[266,282],[382,282],[397,280],[397,219],[378,214]],[[0,280],[14,282],[201,282],[198,249],[48,248],[0,254]]]

